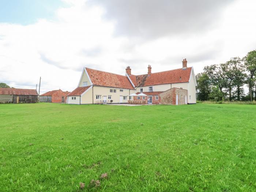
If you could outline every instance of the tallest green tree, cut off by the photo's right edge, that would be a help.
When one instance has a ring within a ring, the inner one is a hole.
[[[255,86],[255,101],[256,101],[256,50],[253,50],[243,58],[245,67],[249,72],[248,76],[248,87],[250,94],[252,94],[253,86]],[[252,94],[253,95],[253,94]]]

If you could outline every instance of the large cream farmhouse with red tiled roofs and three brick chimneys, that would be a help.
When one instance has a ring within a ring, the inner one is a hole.
[[[125,69],[125,75],[83,68],[78,87],[68,94],[68,104],[106,103],[148,103],[182,105],[196,103],[196,78],[193,67],[163,72],[151,72],[133,75],[131,68]],[[140,96],[139,94],[143,93]],[[129,96],[136,94],[137,96]]]

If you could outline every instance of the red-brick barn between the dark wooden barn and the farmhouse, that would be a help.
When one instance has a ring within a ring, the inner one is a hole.
[[[39,101],[40,102],[52,102],[52,103],[66,102],[67,95],[69,93],[70,92],[62,91],[61,89],[48,91],[47,93],[44,93],[39,96]]]

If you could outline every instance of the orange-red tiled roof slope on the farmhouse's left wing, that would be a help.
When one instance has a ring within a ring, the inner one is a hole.
[[[127,76],[98,71],[90,68],[86,68],[86,71],[93,85],[123,89],[134,89]]]

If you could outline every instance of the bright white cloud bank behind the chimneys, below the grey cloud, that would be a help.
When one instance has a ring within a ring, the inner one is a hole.
[[[59,88],[71,91],[84,66],[124,74],[130,65],[133,74],[142,74],[148,64],[157,72],[181,67],[182,58],[187,58],[197,73],[205,65],[256,49],[253,0],[230,4],[218,15],[221,20],[204,31],[147,41],[115,36],[115,20],[104,19],[104,7],[65,1],[70,7],[56,11],[57,21],[41,19],[26,26],[0,23],[0,81],[34,88],[42,76],[41,93]]]

